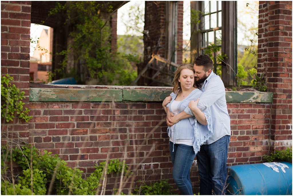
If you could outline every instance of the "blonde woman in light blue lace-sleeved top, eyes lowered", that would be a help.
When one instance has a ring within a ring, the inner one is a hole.
[[[180,120],[167,129],[173,179],[181,195],[193,195],[190,167],[200,145],[212,134],[212,122],[209,111],[202,112],[196,107],[202,91],[195,86],[191,64],[182,64],[177,68],[173,84],[173,93],[162,104],[165,112],[167,113],[168,108],[171,113],[177,115],[189,106],[196,117]]]

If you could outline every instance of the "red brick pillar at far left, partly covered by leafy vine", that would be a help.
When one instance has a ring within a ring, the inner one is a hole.
[[[1,1],[1,75],[13,76],[11,84],[25,92],[25,103],[29,100],[30,5],[31,1]],[[1,139],[7,133],[10,138],[28,137],[28,123],[18,118],[6,123],[1,118]]]

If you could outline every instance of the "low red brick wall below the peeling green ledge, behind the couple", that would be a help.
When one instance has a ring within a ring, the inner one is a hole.
[[[29,132],[22,125],[7,126],[15,138],[23,137],[41,151],[60,154],[68,166],[81,168],[85,173],[92,172],[95,163],[107,156],[122,160],[126,153],[134,179],[149,183],[166,178],[174,185],[161,103],[31,102],[29,106],[33,115]],[[228,166],[263,161],[269,150],[270,108],[271,104],[228,103]],[[198,191],[196,162],[191,181]],[[126,184],[126,188],[131,186]],[[107,185],[109,193],[113,186]]]

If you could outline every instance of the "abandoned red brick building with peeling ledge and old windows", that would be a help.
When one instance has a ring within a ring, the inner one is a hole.
[[[41,152],[59,154],[67,166],[80,168],[85,175],[107,156],[125,158],[135,181],[168,179],[176,187],[162,108],[171,87],[151,84],[158,70],[146,65],[152,54],[168,59],[169,64],[182,63],[183,1],[145,1],[144,62],[138,73],[146,67],[146,77],[137,81],[139,86],[36,87],[29,82],[30,23],[45,21],[44,25],[54,29],[52,69],[60,60],[54,54],[67,46],[64,18],[47,18],[54,2],[1,1],[1,76],[13,76],[11,83],[25,92],[23,102],[33,116],[29,122],[16,117],[8,123],[1,117],[1,144],[25,141]],[[191,8],[202,11],[203,2],[191,1]],[[113,10],[121,4],[115,1]],[[192,27],[197,31],[191,37],[191,63],[206,47],[205,33],[221,29],[222,51],[231,65],[222,64],[222,79],[225,86],[231,86],[232,70],[237,67],[236,1],[217,1],[219,7],[222,9],[208,14],[221,15],[222,26]],[[115,50],[117,12],[111,18],[111,28]],[[263,163],[265,155],[292,147],[292,1],[259,1],[257,71],[264,74],[267,92],[226,91],[231,118],[228,166]],[[190,177],[198,192],[196,161]],[[108,178],[105,194],[112,194],[115,178]],[[130,194],[135,185],[125,182],[123,192]]]

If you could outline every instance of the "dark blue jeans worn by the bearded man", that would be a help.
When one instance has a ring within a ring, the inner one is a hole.
[[[230,136],[225,135],[212,144],[200,146],[197,153],[200,176],[200,195],[224,195],[226,193],[226,163]],[[212,192],[213,191],[213,192]]]

